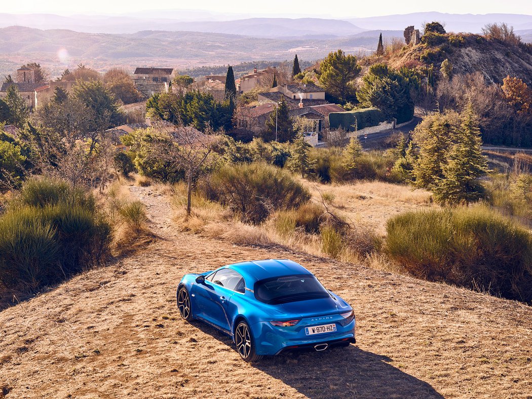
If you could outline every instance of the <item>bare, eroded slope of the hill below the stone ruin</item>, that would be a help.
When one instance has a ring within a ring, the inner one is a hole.
[[[402,65],[433,63],[439,71],[443,60],[448,59],[453,65],[453,74],[479,71],[488,83],[502,84],[510,75],[518,77],[528,85],[532,84],[532,54],[518,46],[511,46],[498,40],[486,40],[478,35],[459,35],[463,44],[447,42],[429,46],[421,44],[405,47],[401,52],[389,57],[388,63],[395,68]],[[445,40],[451,37],[445,36]],[[438,72],[439,73],[439,72]]]

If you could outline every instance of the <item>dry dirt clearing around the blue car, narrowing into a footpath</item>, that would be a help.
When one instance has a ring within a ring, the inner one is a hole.
[[[131,190],[161,239],[0,312],[0,397],[532,397],[532,308],[180,233],[167,198]],[[270,257],[301,262],[353,305],[356,346],[250,365],[228,337],[179,318],[182,275]]]

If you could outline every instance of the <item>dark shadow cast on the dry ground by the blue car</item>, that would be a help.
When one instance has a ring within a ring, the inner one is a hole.
[[[193,323],[235,348],[229,336],[200,321]],[[252,365],[310,398],[443,398],[430,384],[394,367],[391,361],[352,344],[323,352],[265,356]]]

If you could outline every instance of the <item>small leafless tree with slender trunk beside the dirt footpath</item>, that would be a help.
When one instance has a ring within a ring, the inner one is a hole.
[[[190,216],[192,207],[192,188],[196,179],[206,165],[212,160],[211,153],[222,136],[215,134],[207,128],[206,133],[179,124],[174,128],[163,126],[162,129],[167,139],[157,140],[154,143],[154,154],[160,159],[173,163],[176,167],[185,169],[187,179],[187,217]]]

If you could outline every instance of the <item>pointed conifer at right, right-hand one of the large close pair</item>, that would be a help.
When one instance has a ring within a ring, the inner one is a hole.
[[[443,178],[438,179],[433,187],[434,200],[440,204],[469,204],[484,195],[484,187],[478,179],[488,170],[487,159],[482,155],[478,118],[471,102],[461,119],[460,128],[454,131]]]

